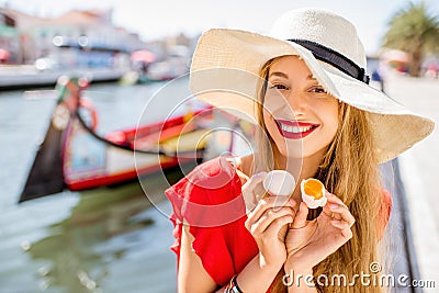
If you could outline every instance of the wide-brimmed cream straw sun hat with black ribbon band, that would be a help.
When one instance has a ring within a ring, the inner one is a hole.
[[[432,132],[431,120],[368,84],[365,53],[356,27],[324,10],[290,11],[275,21],[270,36],[226,29],[205,32],[192,58],[191,90],[199,99],[257,123],[259,70],[284,55],[297,55],[328,93],[367,111],[380,162]]]

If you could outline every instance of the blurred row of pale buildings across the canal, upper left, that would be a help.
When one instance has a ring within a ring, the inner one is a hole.
[[[138,35],[112,24],[112,10],[72,10],[46,19],[0,9],[0,48],[9,53],[9,64],[117,66],[144,47]]]

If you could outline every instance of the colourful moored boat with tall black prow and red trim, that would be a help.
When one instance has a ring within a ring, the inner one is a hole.
[[[58,100],[19,202],[64,189],[120,184],[203,160],[212,108],[100,136],[95,132],[98,114],[82,97],[87,87],[82,79],[58,80]],[[91,122],[81,117],[79,109],[89,111]]]

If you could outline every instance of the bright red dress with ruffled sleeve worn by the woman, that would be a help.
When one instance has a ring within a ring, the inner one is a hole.
[[[173,209],[170,219],[176,241],[171,250],[177,253],[177,269],[183,218],[194,237],[192,249],[221,286],[227,284],[259,252],[254,237],[244,225],[247,215],[240,196],[240,179],[226,159],[216,158],[198,166],[165,194]],[[390,209],[386,212],[387,221]]]

